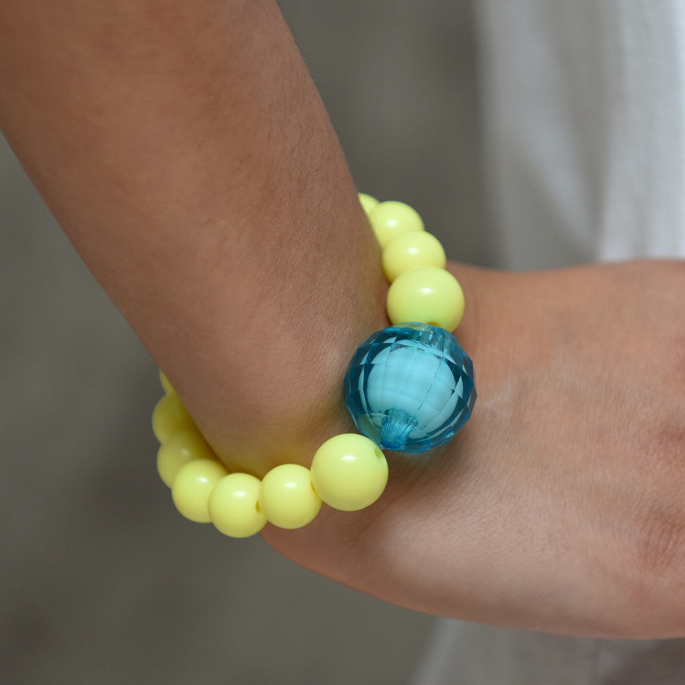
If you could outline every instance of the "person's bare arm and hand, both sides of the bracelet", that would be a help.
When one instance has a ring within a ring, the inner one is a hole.
[[[275,3],[5,1],[0,127],[229,468],[353,429],[341,379],[387,286]],[[435,614],[685,635],[683,264],[449,269],[469,424],[390,455],[369,509],[264,538]]]

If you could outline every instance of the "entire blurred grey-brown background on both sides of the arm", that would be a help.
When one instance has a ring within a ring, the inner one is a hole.
[[[471,4],[281,4],[358,186],[489,264]],[[175,512],[155,366],[2,142],[0,229],[0,682],[408,682],[428,616]]]

